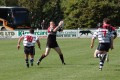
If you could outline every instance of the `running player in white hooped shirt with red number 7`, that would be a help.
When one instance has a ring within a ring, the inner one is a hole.
[[[109,27],[106,27],[106,29],[99,28],[92,37],[91,48],[94,47],[94,41],[96,38],[98,38],[99,45],[97,51],[95,50],[94,57],[100,58],[99,70],[102,70],[107,52],[110,48],[113,49],[114,35],[109,31]]]

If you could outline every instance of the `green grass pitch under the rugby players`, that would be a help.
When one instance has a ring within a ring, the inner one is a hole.
[[[99,71],[99,59],[93,58],[97,41],[90,49],[91,39],[58,39],[66,65],[52,49],[39,66],[38,58],[45,51],[46,39],[41,39],[41,50],[36,45],[34,66],[27,68],[23,46],[17,50],[17,39],[0,40],[0,80],[120,80],[120,38],[110,50],[110,62]]]

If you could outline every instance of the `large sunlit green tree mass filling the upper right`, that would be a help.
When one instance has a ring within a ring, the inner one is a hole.
[[[113,25],[120,25],[119,0],[65,0],[65,28],[95,28],[103,18],[110,18]]]

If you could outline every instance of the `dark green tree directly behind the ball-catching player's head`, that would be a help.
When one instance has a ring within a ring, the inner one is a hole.
[[[51,20],[57,24],[61,19],[63,19],[63,12],[60,4],[60,0],[48,0],[43,6],[43,13],[47,26]]]

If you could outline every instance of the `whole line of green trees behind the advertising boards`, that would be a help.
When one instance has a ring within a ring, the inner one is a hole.
[[[45,20],[64,20],[66,29],[95,28],[104,18],[120,26],[120,0],[0,0],[0,6],[20,6],[30,11],[32,27]]]

